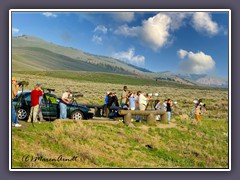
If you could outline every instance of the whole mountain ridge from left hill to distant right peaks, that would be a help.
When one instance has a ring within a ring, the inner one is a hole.
[[[95,55],[80,49],[65,47],[41,38],[22,35],[12,37],[12,67],[15,71],[76,70],[112,72],[148,77],[155,80],[175,81],[186,85],[226,87],[226,81],[206,74],[180,74],[171,71],[152,72],[119,59]],[[205,79],[204,79],[205,78]]]

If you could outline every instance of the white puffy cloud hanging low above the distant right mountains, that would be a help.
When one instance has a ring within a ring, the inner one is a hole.
[[[201,51],[193,53],[181,49],[178,51],[178,55],[181,59],[185,58],[179,64],[179,68],[184,72],[201,74],[207,73],[215,67],[215,61],[212,57]]]

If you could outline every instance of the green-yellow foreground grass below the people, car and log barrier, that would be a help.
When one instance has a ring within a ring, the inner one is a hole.
[[[12,167],[228,168],[225,120],[205,119],[199,126],[178,121],[172,128],[159,122],[134,124],[57,120],[33,128],[23,123],[12,131]],[[49,160],[59,156],[77,158]]]

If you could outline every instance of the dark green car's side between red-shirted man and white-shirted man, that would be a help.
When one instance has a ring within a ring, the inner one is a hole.
[[[44,93],[41,102],[43,118],[56,119],[58,114],[57,105],[57,98],[54,94]]]

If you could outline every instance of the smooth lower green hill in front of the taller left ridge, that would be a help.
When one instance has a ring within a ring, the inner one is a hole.
[[[37,47],[14,47],[12,49],[12,66],[14,71],[73,70],[125,72],[118,67],[103,67],[70,58],[52,51]]]

